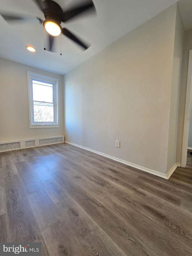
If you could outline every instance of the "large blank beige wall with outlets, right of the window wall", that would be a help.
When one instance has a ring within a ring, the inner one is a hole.
[[[176,10],[175,4],[65,75],[66,141],[167,172]]]

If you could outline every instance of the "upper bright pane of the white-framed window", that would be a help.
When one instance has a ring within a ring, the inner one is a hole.
[[[36,81],[35,81],[36,82]],[[34,83],[33,81],[33,100],[53,102],[53,87]]]

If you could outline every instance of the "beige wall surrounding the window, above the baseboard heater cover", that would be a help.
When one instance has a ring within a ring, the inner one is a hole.
[[[59,79],[60,128],[29,129],[27,71]],[[0,141],[63,135],[63,76],[0,58]]]

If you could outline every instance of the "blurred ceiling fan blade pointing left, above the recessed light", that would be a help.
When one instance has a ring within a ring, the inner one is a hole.
[[[21,21],[32,21],[35,22],[37,21],[38,23],[43,23],[43,20],[39,17],[34,17],[34,16],[21,16],[21,15],[16,15],[16,14],[2,14],[0,13],[2,18],[7,22],[7,23],[14,23],[14,22],[21,22]]]

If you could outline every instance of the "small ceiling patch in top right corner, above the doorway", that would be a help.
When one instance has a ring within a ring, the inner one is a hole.
[[[181,12],[184,29],[192,28],[192,0],[180,0],[179,9]]]

